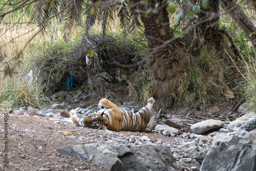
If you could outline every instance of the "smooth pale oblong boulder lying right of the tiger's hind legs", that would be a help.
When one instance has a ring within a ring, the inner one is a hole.
[[[224,122],[220,120],[209,119],[202,122],[193,124],[190,129],[196,134],[204,134],[212,129],[221,129],[224,126]]]

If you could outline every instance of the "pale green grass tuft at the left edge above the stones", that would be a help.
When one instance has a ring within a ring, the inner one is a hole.
[[[47,100],[42,96],[43,88],[39,86],[39,80],[29,83],[26,74],[29,70],[16,71],[13,77],[4,76],[1,72],[0,79],[0,108],[13,109],[16,106],[42,106]]]

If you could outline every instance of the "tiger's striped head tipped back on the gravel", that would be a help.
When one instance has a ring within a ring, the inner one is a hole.
[[[92,129],[104,129],[104,112],[95,112],[83,118],[83,124]]]

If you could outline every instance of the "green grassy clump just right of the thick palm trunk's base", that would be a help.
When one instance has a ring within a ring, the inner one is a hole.
[[[214,49],[203,47],[195,56],[198,67],[192,67],[189,73],[180,78],[177,92],[172,92],[180,100],[185,98],[191,104],[204,104],[214,100],[212,97],[219,97],[224,89],[223,84],[224,68],[227,63]]]

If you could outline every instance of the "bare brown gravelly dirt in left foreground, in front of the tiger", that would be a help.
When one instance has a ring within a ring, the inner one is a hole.
[[[5,139],[4,113],[1,113],[0,120],[0,139],[3,140]],[[106,170],[86,160],[63,155],[56,149],[87,143],[131,143],[129,137],[132,135],[138,138],[146,135],[154,142],[173,139],[160,134],[93,130],[79,127],[70,121],[42,116],[9,114],[8,124],[8,152],[4,151],[5,144],[1,143],[0,170]],[[70,132],[72,135],[58,133],[59,131]],[[121,139],[114,138],[116,140],[113,141],[112,137],[121,137]],[[6,154],[8,154],[8,169],[4,166],[3,157]]]

